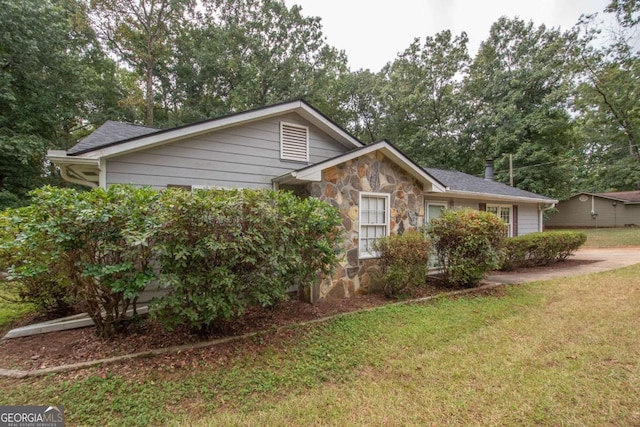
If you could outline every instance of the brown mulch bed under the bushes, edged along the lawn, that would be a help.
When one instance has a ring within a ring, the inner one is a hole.
[[[451,289],[427,287],[412,297],[419,298],[448,290]],[[158,321],[145,318],[139,324],[131,325],[125,334],[111,340],[100,339],[93,328],[13,338],[0,341],[0,367],[20,370],[44,369],[250,332],[272,330],[275,333],[278,327],[284,325],[382,306],[389,302],[389,299],[377,294],[358,295],[341,300],[322,300],[315,305],[288,300],[271,309],[249,309],[244,317],[224,322],[206,337],[193,334],[187,328],[168,331]],[[42,320],[44,319],[37,319]],[[283,332],[279,333],[283,334],[286,335]]]

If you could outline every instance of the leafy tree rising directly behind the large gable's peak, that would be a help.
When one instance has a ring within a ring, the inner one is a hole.
[[[346,58],[325,43],[319,18],[279,0],[211,0],[205,6],[176,39],[176,60],[163,81],[169,123],[294,98],[340,115],[334,87],[347,71]]]

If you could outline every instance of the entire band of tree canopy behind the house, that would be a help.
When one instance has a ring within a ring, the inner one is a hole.
[[[640,182],[640,6],[613,0],[570,31],[502,17],[416,38],[351,71],[319,17],[281,0],[0,0],[0,208],[60,183],[45,162],[105,120],[170,127],[302,98],[422,166],[552,197]]]

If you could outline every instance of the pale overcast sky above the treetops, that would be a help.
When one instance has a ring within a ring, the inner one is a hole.
[[[304,16],[322,18],[328,44],[344,50],[351,70],[379,71],[414,38],[443,30],[469,36],[474,56],[491,24],[505,15],[536,25],[571,28],[581,14],[602,12],[610,0],[285,0]]]

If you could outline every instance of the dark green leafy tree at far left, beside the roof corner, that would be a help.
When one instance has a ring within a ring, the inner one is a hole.
[[[46,150],[117,106],[112,70],[81,4],[0,0],[0,208],[55,182]]]

